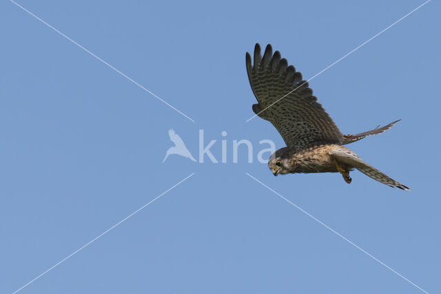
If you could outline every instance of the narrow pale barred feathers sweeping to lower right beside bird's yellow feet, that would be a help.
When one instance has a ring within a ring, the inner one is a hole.
[[[378,182],[382,182],[384,185],[388,185],[389,187],[393,188],[397,187],[402,190],[410,190],[408,187],[402,185],[400,182],[397,182],[396,180],[393,180],[393,178],[383,174],[375,167],[371,167],[370,165],[368,165],[351,150],[343,148],[345,147],[333,149],[329,152],[329,154],[334,156],[338,161],[344,162],[345,164],[349,165],[349,167],[355,167],[366,176],[369,176],[374,180],[378,180]]]

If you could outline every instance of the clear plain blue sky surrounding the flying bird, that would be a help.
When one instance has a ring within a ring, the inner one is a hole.
[[[255,118],[245,52],[273,45],[314,76],[424,1],[0,2],[0,293],[12,293],[192,173],[21,293],[440,293],[440,4],[431,1],[311,81],[349,147],[413,191],[358,171],[274,177],[232,141],[285,146]],[[170,156],[173,128],[197,156]],[[221,132],[227,136],[221,136]],[[256,154],[254,154],[256,156]]]

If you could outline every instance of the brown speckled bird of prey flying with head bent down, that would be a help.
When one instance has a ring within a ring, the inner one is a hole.
[[[381,134],[399,120],[371,131],[344,135],[317,102],[307,81],[302,81],[302,74],[296,72],[293,65],[288,66],[280,52],[273,54],[271,45],[267,45],[262,56],[257,43],[254,60],[247,52],[245,64],[249,83],[258,101],[253,105],[254,113],[269,120],[287,145],[269,157],[268,167],[274,176],[339,172],[350,184],[349,171],[358,169],[384,185],[410,190],[342,146]]]

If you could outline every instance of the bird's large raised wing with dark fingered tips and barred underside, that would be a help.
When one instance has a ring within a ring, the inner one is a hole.
[[[317,102],[316,96],[302,74],[280,52],[272,54],[267,45],[263,56],[260,45],[254,48],[254,64],[247,52],[246,65],[249,83],[258,104],[253,111],[269,120],[291,149],[305,149],[319,144],[340,144],[343,134],[331,117]],[[283,98],[282,98],[283,97]]]

